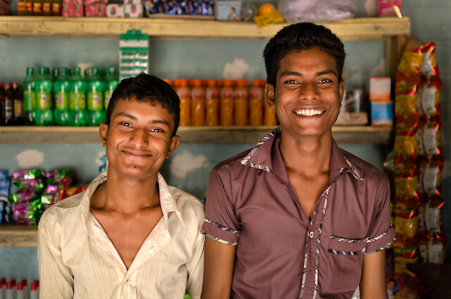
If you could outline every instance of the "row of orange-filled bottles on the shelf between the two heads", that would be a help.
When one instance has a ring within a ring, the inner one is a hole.
[[[276,111],[264,100],[265,80],[177,79],[180,126],[275,126]]]

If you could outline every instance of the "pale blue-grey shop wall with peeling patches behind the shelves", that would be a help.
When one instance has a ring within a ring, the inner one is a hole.
[[[371,15],[369,7],[375,1],[359,0],[357,16]],[[438,63],[443,80],[442,112],[445,157],[451,157],[451,145],[447,136],[451,133],[450,97],[450,45],[451,21],[449,0],[404,1],[405,16],[412,20],[412,37],[437,44]],[[150,73],[161,78],[223,78],[223,71],[232,68],[241,71],[243,77],[265,78],[261,57],[264,41],[198,41],[159,40],[150,43]],[[364,88],[371,73],[383,68],[384,47],[381,42],[346,42],[346,88]],[[117,40],[53,40],[53,39],[0,39],[3,59],[0,61],[0,81],[20,82],[27,66],[45,65],[51,68],[75,66],[77,63],[94,63],[101,68],[118,65]],[[385,147],[381,145],[340,145],[383,169]],[[161,172],[168,183],[187,190],[197,197],[204,197],[209,172],[219,161],[233,156],[252,144],[205,145],[183,144],[172,155]],[[78,178],[89,181],[98,173],[99,157],[104,153],[101,144],[81,145],[0,145],[0,168],[8,171],[21,169],[20,153],[31,150],[42,161],[42,169],[71,168]],[[23,159],[23,158],[22,158]],[[443,196],[451,201],[451,169],[445,163],[443,171]],[[445,205],[443,221],[447,236],[451,236],[451,205]],[[36,248],[0,248],[3,258],[0,276],[8,278],[37,278]],[[447,257],[451,257],[451,244],[447,244]]]

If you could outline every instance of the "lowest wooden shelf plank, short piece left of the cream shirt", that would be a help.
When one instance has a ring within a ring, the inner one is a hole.
[[[37,226],[0,225],[0,246],[37,246]]]

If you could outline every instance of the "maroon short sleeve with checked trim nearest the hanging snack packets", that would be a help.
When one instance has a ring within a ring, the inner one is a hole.
[[[376,196],[379,198],[378,206],[376,206],[376,216],[374,217],[369,239],[366,241],[366,254],[381,251],[388,248],[396,239],[395,230],[390,223],[390,183],[384,175],[381,180],[382,184]]]

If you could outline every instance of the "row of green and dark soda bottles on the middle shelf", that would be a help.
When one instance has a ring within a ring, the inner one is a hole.
[[[118,85],[118,74],[110,67],[102,72],[93,67],[81,74],[79,67],[49,68],[41,66],[35,75],[27,68],[23,93],[5,92],[2,98],[0,123],[4,125],[37,126],[99,126],[105,118],[105,109],[113,90]],[[22,95],[22,97],[20,97]],[[23,102],[23,112],[14,109],[14,102]],[[20,118],[20,114],[23,115]]]

